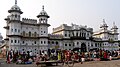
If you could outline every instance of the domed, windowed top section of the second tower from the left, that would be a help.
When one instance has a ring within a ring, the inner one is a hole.
[[[42,8],[42,11],[37,16],[37,18],[39,18],[39,23],[47,24],[47,20],[48,20],[49,16],[48,16],[47,12],[44,10],[44,6]]]

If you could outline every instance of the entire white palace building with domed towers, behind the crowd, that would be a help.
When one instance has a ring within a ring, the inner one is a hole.
[[[99,32],[93,32],[93,28],[87,26],[62,24],[53,28],[52,34],[48,34],[49,15],[44,10],[44,6],[37,15],[38,21],[28,18],[21,20],[23,12],[17,6],[17,2],[8,12],[9,15],[5,18],[7,25],[4,28],[6,29],[5,43],[9,50],[32,51],[34,54],[48,49],[73,50],[80,48],[81,51],[89,51],[96,48],[104,49],[106,47],[104,44],[109,45],[108,41],[110,40],[115,41],[115,47],[118,47],[118,28],[115,25],[112,31],[108,31],[108,26],[104,23]]]

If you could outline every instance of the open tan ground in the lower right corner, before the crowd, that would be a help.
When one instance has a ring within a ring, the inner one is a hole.
[[[92,61],[83,64],[77,63],[74,67],[120,67],[120,60],[112,61]]]

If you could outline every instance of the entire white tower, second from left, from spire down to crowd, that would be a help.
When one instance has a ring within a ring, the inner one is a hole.
[[[42,45],[43,50],[48,50],[48,27],[50,26],[50,24],[47,23],[48,21],[48,14],[47,12],[44,10],[44,6],[42,8],[42,11],[39,13],[39,15],[37,15],[37,18],[39,18],[39,22],[38,24],[39,26],[39,43],[40,45]],[[43,43],[44,41],[44,43]]]

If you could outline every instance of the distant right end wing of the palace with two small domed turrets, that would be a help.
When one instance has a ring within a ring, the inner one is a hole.
[[[103,24],[100,26],[99,31],[94,32],[93,37],[101,39],[103,49],[118,50],[120,46],[118,35],[118,27],[115,25],[115,22],[113,22],[111,30],[108,30],[108,25],[103,19]]]

